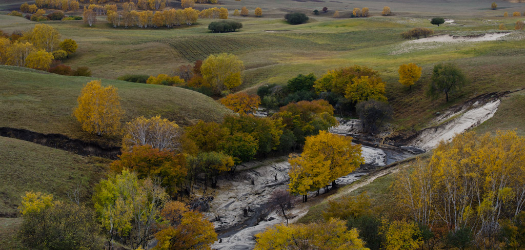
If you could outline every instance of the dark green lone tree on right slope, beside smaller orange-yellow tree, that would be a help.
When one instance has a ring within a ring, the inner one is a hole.
[[[437,96],[444,92],[448,102],[448,93],[461,89],[467,82],[467,77],[459,67],[451,63],[439,63],[434,66],[427,94]]]

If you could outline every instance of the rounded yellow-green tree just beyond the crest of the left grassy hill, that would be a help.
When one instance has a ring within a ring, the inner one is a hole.
[[[202,77],[212,84],[221,94],[242,83],[241,72],[244,70],[243,61],[237,56],[228,53],[209,55],[201,66]]]

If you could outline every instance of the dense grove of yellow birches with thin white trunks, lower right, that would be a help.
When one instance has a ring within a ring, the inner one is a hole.
[[[516,132],[467,132],[440,143],[414,171],[403,171],[392,190],[416,223],[444,225],[451,232],[471,229],[478,244],[493,248],[494,229],[523,209],[523,161],[525,137]]]

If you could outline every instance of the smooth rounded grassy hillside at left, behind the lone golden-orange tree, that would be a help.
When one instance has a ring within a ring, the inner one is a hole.
[[[0,66],[0,127],[23,128],[44,134],[62,134],[89,142],[119,145],[120,137],[97,137],[81,130],[71,115],[82,86],[96,80],[67,77],[25,68]],[[125,112],[123,122],[160,114],[188,125],[198,119],[220,121],[228,113],[212,98],[171,86],[101,79],[118,89]]]

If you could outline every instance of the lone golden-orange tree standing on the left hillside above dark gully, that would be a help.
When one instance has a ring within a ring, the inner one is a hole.
[[[80,96],[73,115],[82,125],[82,129],[97,135],[117,134],[122,119],[117,88],[103,87],[100,80],[88,82]]]

